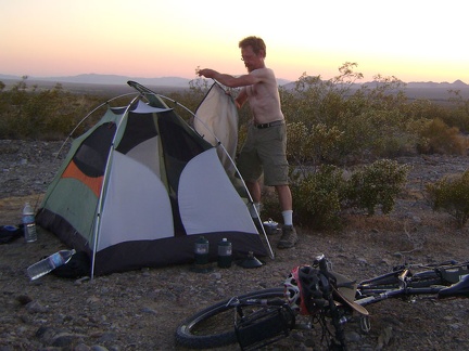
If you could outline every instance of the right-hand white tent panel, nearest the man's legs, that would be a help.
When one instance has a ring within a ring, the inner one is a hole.
[[[179,180],[179,212],[187,234],[257,234],[244,202],[232,186],[216,148],[189,161]]]

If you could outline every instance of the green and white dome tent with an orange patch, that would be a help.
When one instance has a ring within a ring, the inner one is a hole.
[[[268,239],[252,222],[248,192],[221,165],[221,144],[207,142],[156,93],[129,84],[138,95],[124,107],[107,104],[72,143],[37,223],[87,252],[94,275],[189,263],[201,235],[211,260],[224,237],[234,256],[266,256]]]

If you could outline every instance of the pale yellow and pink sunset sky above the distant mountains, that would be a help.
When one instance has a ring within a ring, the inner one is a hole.
[[[365,80],[469,83],[467,18],[465,0],[0,0],[0,74],[239,75],[256,35],[278,78],[354,62]]]

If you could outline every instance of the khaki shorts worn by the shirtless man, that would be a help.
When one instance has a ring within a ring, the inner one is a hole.
[[[265,185],[288,185],[286,125],[264,129],[250,126],[237,166],[246,182],[256,182],[264,173]]]

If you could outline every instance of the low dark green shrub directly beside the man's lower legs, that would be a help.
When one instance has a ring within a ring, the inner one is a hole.
[[[299,222],[318,229],[340,226],[344,182],[342,170],[330,165],[294,182],[291,191]]]

